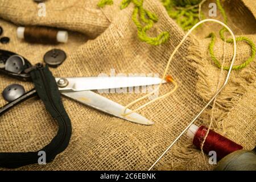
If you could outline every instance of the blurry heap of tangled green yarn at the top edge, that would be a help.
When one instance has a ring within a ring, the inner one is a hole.
[[[162,0],[168,15],[176,20],[176,23],[184,30],[191,29],[198,23],[199,3],[202,0]],[[203,17],[204,15],[201,14]]]

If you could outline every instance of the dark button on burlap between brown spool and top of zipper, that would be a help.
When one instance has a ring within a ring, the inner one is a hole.
[[[44,55],[44,62],[50,67],[57,67],[67,58],[66,53],[60,49],[52,49]]]

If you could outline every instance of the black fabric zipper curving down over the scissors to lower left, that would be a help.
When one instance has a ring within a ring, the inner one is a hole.
[[[52,76],[48,67],[42,67],[42,64],[38,64],[30,72],[30,75],[38,96],[44,102],[47,111],[56,119],[59,125],[57,135],[52,139],[51,143],[39,150],[46,152],[46,162],[48,163],[55,159],[57,154],[67,148],[72,133],[71,121],[61,102],[60,92],[55,78]],[[38,156],[39,151],[2,152],[0,153],[0,167],[17,168],[38,163],[40,157]]]

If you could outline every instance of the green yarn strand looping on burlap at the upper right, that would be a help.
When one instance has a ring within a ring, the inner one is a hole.
[[[226,16],[225,10],[221,6],[220,0],[216,0],[216,3],[217,3],[218,9],[220,10],[220,12],[221,12],[221,14],[224,18],[224,23],[227,24],[228,23],[228,18]],[[233,43],[233,39],[225,40],[224,34],[225,34],[226,31],[228,31],[228,30],[226,30],[225,27],[221,28],[221,30],[219,32],[221,40],[226,41],[227,43]],[[209,44],[210,57],[212,58],[214,64],[216,64],[216,66],[218,68],[221,68],[221,64],[217,60],[216,56],[214,56],[214,51],[213,51],[214,43],[216,41],[216,36],[214,35],[214,33],[210,33],[210,35],[208,37],[211,38],[211,41],[210,41],[210,44]],[[255,58],[256,49],[255,49],[254,42],[252,40],[250,40],[249,38],[245,37],[245,36],[240,36],[240,37],[236,38],[236,42],[240,42],[240,41],[245,41],[247,44],[249,44],[249,46],[251,47],[251,55],[244,63],[239,64],[239,65],[234,65],[232,70],[238,70],[238,69],[245,68]],[[226,67],[226,66],[223,67],[223,69],[225,69],[225,70],[229,70],[229,68],[230,67]]]

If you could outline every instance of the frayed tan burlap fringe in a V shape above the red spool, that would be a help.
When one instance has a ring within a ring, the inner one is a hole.
[[[216,92],[217,85],[212,88],[210,83],[212,82],[209,73],[206,72],[205,59],[203,59],[200,42],[194,39],[193,46],[189,48],[189,55],[188,59],[192,60],[193,67],[196,68],[196,72],[199,75],[199,80],[197,81],[197,92],[205,101],[209,101],[209,99],[213,96]],[[238,50],[239,53],[239,50]],[[208,59],[208,57],[207,57]],[[213,63],[212,63],[213,64]],[[214,65],[212,65],[214,67]],[[246,68],[242,69],[241,71],[233,71],[231,77],[229,78],[228,85],[222,90],[222,92],[218,95],[216,100],[216,106],[214,106],[214,114],[213,114],[213,121],[214,122],[214,130],[218,132],[222,131],[222,134],[225,132],[225,127],[222,124],[222,120],[226,118],[229,111],[233,109],[234,106],[240,101],[243,94],[246,93],[247,88],[254,84],[255,77],[256,77],[256,64],[255,61],[251,62]],[[221,84],[224,82],[226,75],[222,76]],[[216,78],[218,79],[218,78]],[[205,118],[209,118],[210,110],[208,109],[204,115]],[[207,119],[205,120],[205,124],[208,124]]]

